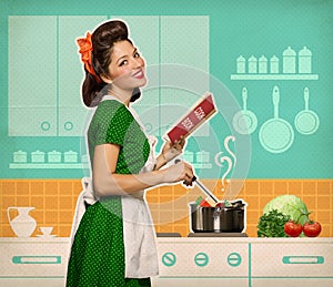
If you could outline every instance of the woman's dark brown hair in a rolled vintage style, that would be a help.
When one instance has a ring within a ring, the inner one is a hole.
[[[91,41],[93,48],[91,52],[91,64],[98,75],[109,74],[109,65],[111,63],[114,43],[119,41],[129,41],[132,43],[129,39],[127,24],[119,20],[108,21],[98,27],[92,33]],[[91,106],[97,95],[105,90],[103,89],[105,85],[104,82],[98,83],[93,75],[85,70],[85,79],[82,84],[82,100],[84,104]],[[134,89],[131,102],[138,100],[140,95],[140,89]]]

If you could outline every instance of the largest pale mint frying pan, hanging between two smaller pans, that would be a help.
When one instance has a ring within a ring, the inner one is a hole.
[[[285,152],[294,141],[294,131],[289,122],[279,117],[280,91],[273,89],[274,117],[266,121],[259,131],[261,145],[271,153]]]

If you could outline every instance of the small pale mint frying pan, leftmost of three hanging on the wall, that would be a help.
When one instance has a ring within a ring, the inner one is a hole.
[[[232,120],[234,130],[240,134],[251,134],[255,131],[258,120],[254,113],[246,110],[248,89],[243,88],[242,91],[243,110],[238,112]]]

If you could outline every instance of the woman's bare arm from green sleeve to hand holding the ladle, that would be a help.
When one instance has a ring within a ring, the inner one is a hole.
[[[98,196],[135,193],[162,183],[184,181],[185,185],[192,184],[192,166],[184,162],[150,173],[117,174],[119,151],[120,146],[115,144],[97,145],[94,148],[92,181]]]

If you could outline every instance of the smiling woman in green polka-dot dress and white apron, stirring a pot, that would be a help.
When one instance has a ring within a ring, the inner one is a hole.
[[[154,229],[144,188],[192,184],[185,162],[160,170],[182,152],[184,141],[167,142],[153,156],[130,103],[145,85],[144,60],[121,21],[101,24],[78,40],[85,79],[82,98],[94,107],[88,129],[93,194],[75,233],[67,286],[150,286],[158,275]]]

